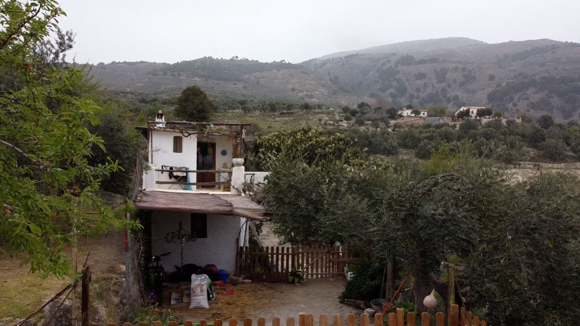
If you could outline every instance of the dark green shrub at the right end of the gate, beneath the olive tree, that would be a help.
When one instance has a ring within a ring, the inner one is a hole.
[[[348,270],[353,277],[346,282],[340,302],[345,302],[345,299],[370,301],[379,298],[384,269],[385,264],[377,260],[360,259],[349,265]]]

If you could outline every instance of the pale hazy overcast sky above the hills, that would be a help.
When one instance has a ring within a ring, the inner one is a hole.
[[[414,39],[580,41],[580,0],[60,0],[67,58],[173,63],[203,56],[300,62]]]

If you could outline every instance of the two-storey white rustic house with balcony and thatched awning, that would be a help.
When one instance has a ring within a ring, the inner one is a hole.
[[[171,252],[164,257],[166,270],[192,263],[235,273],[249,221],[264,218],[263,207],[242,193],[245,182],[263,182],[267,175],[246,172],[244,159],[237,158],[247,125],[166,122],[160,113],[140,128],[148,169],[135,206],[150,214],[151,255]],[[180,228],[191,241],[169,241]]]

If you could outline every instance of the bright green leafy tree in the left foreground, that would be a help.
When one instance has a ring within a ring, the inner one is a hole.
[[[86,128],[99,124],[94,86],[82,70],[56,63],[68,47],[59,37],[56,48],[46,45],[62,15],[51,0],[0,0],[0,251],[57,277],[71,275],[63,248],[75,236],[128,225],[96,195],[117,163],[88,163],[93,144],[105,150]]]

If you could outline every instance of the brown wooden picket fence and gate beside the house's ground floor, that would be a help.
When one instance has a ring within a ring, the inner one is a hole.
[[[356,260],[346,246],[240,247],[238,274],[254,281],[287,282],[288,272],[301,268],[306,278],[337,277]]]

